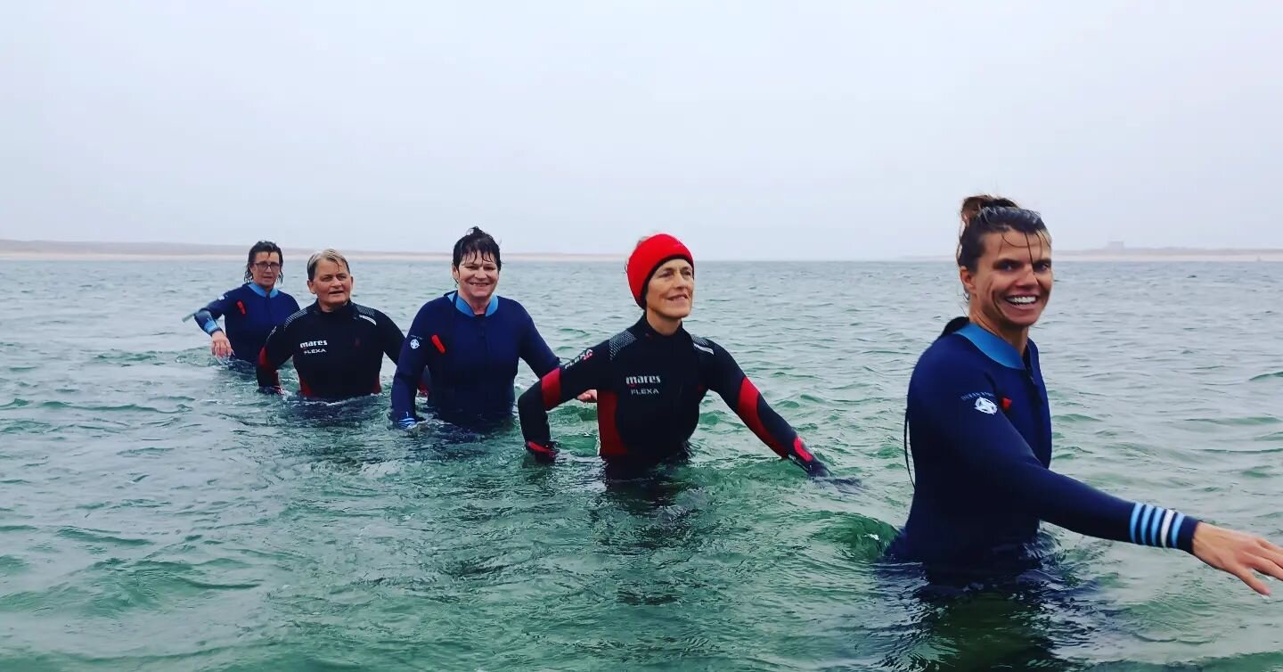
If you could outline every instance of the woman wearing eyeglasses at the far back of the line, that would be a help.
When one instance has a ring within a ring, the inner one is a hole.
[[[196,326],[209,335],[209,351],[214,357],[257,362],[272,328],[299,310],[294,296],[276,289],[282,259],[281,248],[275,242],[255,242],[245,262],[245,283],[209,301],[192,315]],[[222,327],[218,326],[219,317],[223,318]]]

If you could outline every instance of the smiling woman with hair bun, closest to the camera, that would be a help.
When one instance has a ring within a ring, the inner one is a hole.
[[[1283,549],[1192,516],[1126,501],[1051,471],[1052,428],[1029,330],[1052,290],[1051,236],[1015,201],[962,203],[958,276],[967,317],[922,353],[908,385],[916,483],[888,554],[928,567],[992,567],[1025,553],[1042,521],[1114,541],[1180,549],[1269,594]]]

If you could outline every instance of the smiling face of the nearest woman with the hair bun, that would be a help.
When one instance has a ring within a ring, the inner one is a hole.
[[[975,269],[960,268],[971,298],[971,321],[999,336],[1026,335],[1051,299],[1051,242],[1043,232],[984,235]]]

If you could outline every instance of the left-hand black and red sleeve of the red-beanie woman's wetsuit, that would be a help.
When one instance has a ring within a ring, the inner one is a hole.
[[[603,387],[609,374],[609,341],[589,348],[568,364],[548,372],[517,399],[521,435],[526,440],[526,449],[535,457],[556,457],[548,412],[588,390]]]

